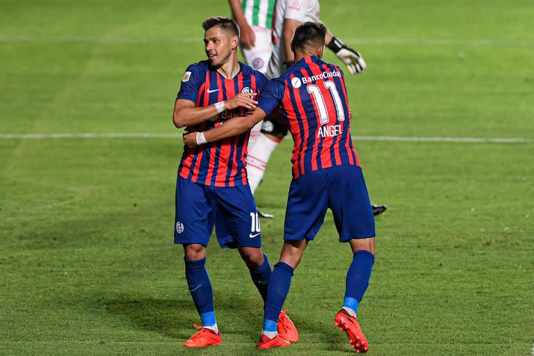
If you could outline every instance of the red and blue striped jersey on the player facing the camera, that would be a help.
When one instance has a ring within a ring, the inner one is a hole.
[[[239,63],[241,70],[233,79],[225,79],[209,67],[207,60],[187,67],[181,80],[177,99],[187,99],[195,106],[209,106],[234,97],[239,92],[257,92],[267,82],[266,76],[248,65]],[[234,116],[241,116],[245,108],[223,111],[210,120],[198,124],[197,131],[208,131],[218,127]],[[243,186],[248,184],[247,145],[250,131],[231,138],[225,138],[200,147],[184,146],[178,174],[197,184],[206,186]]]

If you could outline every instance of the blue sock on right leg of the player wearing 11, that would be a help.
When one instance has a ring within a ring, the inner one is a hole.
[[[345,299],[343,307],[358,310],[359,302],[364,298],[364,293],[369,286],[371,270],[375,257],[369,251],[356,251],[353,257],[353,263],[350,264],[347,272]]]

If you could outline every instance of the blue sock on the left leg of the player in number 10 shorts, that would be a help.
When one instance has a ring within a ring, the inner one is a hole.
[[[213,306],[213,289],[206,270],[206,257],[197,261],[186,261],[186,280],[189,291],[202,319],[202,326],[215,325],[215,307]],[[204,324],[204,323],[211,323]]]

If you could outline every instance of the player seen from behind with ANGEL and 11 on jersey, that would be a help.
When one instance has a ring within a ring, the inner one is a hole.
[[[298,26],[292,42],[295,64],[280,78],[267,83],[257,108],[245,120],[229,120],[222,127],[184,136],[186,145],[218,142],[253,127],[266,115],[280,111],[289,128],[293,147],[293,180],[289,188],[280,261],[270,278],[265,307],[264,332],[258,348],[289,346],[277,333],[293,271],[307,243],[314,239],[330,208],[339,241],[353,251],[346,276],[343,306],[334,324],[344,330],[358,353],[369,350],[356,319],[356,312],[369,285],[375,255],[375,221],[371,202],[350,138],[350,111],[343,72],[321,60],[326,28],[305,22]]]

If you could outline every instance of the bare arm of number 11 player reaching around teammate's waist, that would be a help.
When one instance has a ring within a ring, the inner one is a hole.
[[[184,143],[188,147],[195,147],[204,143],[222,140],[223,138],[237,136],[252,129],[255,124],[264,120],[265,117],[265,111],[261,108],[254,108],[254,111],[251,111],[247,115],[236,116],[209,131],[184,133]]]

